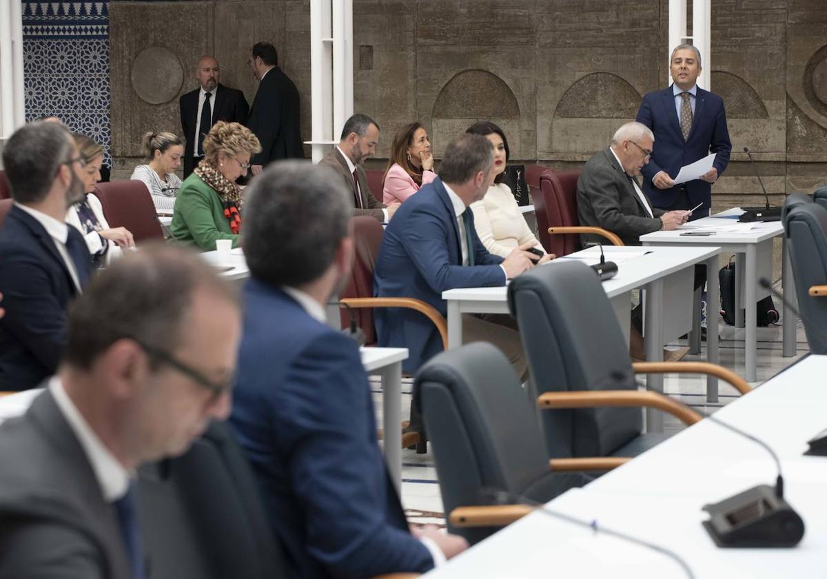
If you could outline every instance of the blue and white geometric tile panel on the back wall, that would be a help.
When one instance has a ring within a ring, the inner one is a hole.
[[[26,121],[55,115],[74,132],[109,144],[109,4],[22,2]]]

